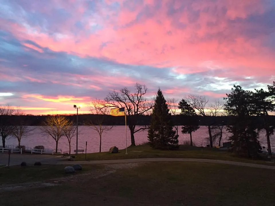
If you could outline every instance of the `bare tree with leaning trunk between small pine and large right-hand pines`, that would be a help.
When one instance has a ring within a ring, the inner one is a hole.
[[[223,108],[223,103],[216,101],[214,104],[209,104],[209,100],[205,96],[189,95],[185,98],[186,102],[196,109],[201,116],[217,116]],[[213,147],[213,139],[211,132],[211,123],[207,125],[209,133],[210,147]]]

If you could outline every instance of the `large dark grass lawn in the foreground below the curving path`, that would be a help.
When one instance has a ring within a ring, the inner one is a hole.
[[[273,170],[210,163],[145,163],[99,179],[0,193],[0,205],[274,205]]]

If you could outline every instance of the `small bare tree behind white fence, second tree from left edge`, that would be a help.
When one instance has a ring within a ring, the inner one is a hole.
[[[17,107],[17,109],[15,110],[14,115],[17,116],[16,124],[13,126],[13,131],[11,135],[17,139],[18,148],[20,148],[21,139],[27,137],[30,132],[34,130],[34,128],[31,128],[28,125],[25,113],[19,107]]]

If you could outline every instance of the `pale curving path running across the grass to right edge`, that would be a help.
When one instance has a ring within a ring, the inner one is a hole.
[[[121,160],[97,160],[97,161],[58,161],[58,165],[74,165],[74,164],[114,164],[114,163],[147,163],[147,162],[202,162],[202,163],[219,163],[227,165],[238,165],[246,167],[256,167],[264,169],[275,169],[275,164],[259,165],[253,163],[242,163],[225,160],[212,159],[192,159],[192,158],[142,158],[142,159],[121,159]]]

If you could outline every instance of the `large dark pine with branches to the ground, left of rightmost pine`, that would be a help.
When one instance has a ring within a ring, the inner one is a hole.
[[[241,86],[232,88],[231,94],[226,94],[225,110],[233,117],[227,131],[232,133],[229,140],[233,143],[233,151],[241,156],[256,157],[261,150],[258,140],[257,126],[251,118],[253,114],[253,92],[245,91]]]

